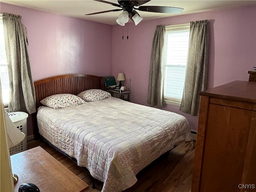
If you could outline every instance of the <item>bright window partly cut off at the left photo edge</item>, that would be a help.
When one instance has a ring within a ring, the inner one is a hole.
[[[7,60],[6,60],[6,51],[4,44],[4,28],[3,28],[3,20],[0,17],[0,78],[1,78],[1,88],[2,88],[2,96],[4,106],[9,103],[9,74],[7,68]]]

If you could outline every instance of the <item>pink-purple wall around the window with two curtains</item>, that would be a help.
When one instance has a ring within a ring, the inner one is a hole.
[[[248,80],[248,70],[256,66],[256,6],[213,10],[142,21],[137,26],[128,24],[129,40],[122,40],[122,27],[112,26],[112,75],[123,72],[131,79],[131,101],[147,104],[148,76],[152,38],[156,25],[189,23],[209,20],[210,53],[208,88],[234,80]],[[124,26],[124,36],[127,25]],[[126,86],[128,81],[123,82]],[[179,111],[179,107],[166,105],[168,110],[184,115],[193,131],[197,128],[197,116]]]

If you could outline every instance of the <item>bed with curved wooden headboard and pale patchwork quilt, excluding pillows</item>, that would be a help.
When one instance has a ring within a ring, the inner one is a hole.
[[[183,116],[113,97],[59,109],[40,106],[40,100],[50,95],[103,89],[102,77],[70,74],[40,80],[34,86],[35,131],[104,182],[102,192],[131,187],[140,170],[175,145],[191,140]]]

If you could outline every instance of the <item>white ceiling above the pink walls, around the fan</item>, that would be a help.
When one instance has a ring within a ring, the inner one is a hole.
[[[96,2],[93,0],[1,0],[1,2],[33,8],[46,12],[67,15],[75,18],[114,25],[119,12],[108,12],[96,15],[84,15],[93,12],[118,9],[110,4]],[[117,0],[109,0],[118,4]],[[181,14],[203,12],[218,8],[236,7],[248,4],[256,4],[256,0],[151,0],[143,6],[172,6],[184,8]],[[153,18],[176,16],[179,14],[164,14],[138,11],[144,20]]]

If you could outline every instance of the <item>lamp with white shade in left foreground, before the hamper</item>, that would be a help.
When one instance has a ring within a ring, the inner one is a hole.
[[[6,122],[6,130],[7,130],[7,139],[9,148],[19,144],[25,138],[25,134],[22,133],[18,128],[14,125],[12,120],[10,119],[7,112],[5,112],[5,122]],[[13,182],[16,183],[18,181],[18,176],[16,174],[12,174]]]

